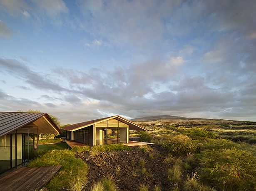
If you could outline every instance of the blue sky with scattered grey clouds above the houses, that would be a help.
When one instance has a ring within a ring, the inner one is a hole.
[[[0,0],[0,111],[256,121],[254,0]]]

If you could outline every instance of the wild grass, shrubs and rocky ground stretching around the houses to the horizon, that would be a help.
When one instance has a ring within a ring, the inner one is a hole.
[[[255,122],[172,116],[132,121],[150,131],[133,131],[130,137],[154,145],[71,150],[65,143],[39,145],[29,167],[63,165],[46,185],[50,191],[256,189]]]

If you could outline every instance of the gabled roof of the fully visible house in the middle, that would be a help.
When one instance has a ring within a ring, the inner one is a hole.
[[[144,127],[142,127],[142,126],[140,126],[136,123],[133,123],[132,121],[129,121],[128,119],[123,118],[123,117],[118,116],[118,115],[117,116],[100,118],[100,119],[95,119],[95,120],[91,120],[91,121],[85,121],[85,122],[82,122],[82,123],[75,123],[73,125],[63,127],[62,129],[66,130],[66,131],[76,131],[76,130],[79,130],[81,128],[85,128],[85,127],[94,125],[96,123],[107,121],[107,120],[112,119],[112,118],[117,119],[118,121],[121,121],[121,122],[126,123],[127,125],[129,125],[129,130],[149,131],[148,129],[146,129],[146,128],[144,128]]]

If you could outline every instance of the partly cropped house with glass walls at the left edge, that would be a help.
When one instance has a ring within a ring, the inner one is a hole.
[[[37,154],[40,133],[62,133],[47,113],[0,112],[0,173]]]

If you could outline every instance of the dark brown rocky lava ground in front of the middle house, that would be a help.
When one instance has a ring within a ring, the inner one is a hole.
[[[92,182],[104,176],[113,176],[120,191],[138,191],[140,184],[150,186],[150,190],[154,188],[154,185],[161,186],[162,191],[169,190],[171,184],[167,179],[168,167],[164,163],[168,155],[167,150],[158,145],[148,147],[146,152],[140,147],[133,147],[133,150],[127,151],[98,152],[97,155],[77,152],[75,156],[84,160],[88,165],[87,189]],[[152,155],[154,159],[149,155]]]

